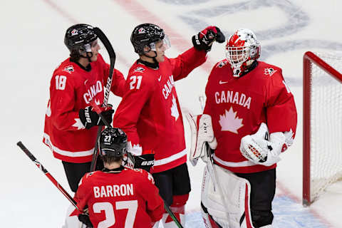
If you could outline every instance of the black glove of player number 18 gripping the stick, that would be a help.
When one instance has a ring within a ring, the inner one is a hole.
[[[101,115],[103,115],[103,118],[105,118],[108,123],[112,123],[113,113],[114,110],[112,107],[108,106],[103,109]],[[80,117],[80,120],[86,129],[90,129],[95,125],[104,125],[98,113],[96,113],[91,106],[88,106],[84,109],[81,108],[78,112],[78,116]]]

